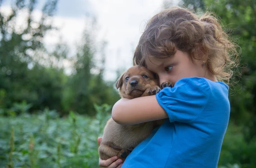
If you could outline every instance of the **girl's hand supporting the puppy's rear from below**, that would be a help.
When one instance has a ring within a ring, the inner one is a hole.
[[[102,140],[102,137],[98,137],[98,144],[100,145],[100,142]],[[117,156],[111,157],[108,160],[101,160],[99,158],[99,167],[100,168],[121,168],[122,166],[122,160],[117,160]]]

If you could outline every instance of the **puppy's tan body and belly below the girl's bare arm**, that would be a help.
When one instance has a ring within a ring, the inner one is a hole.
[[[102,142],[99,146],[99,157],[102,160],[107,160],[110,157],[118,156],[119,159],[125,160],[122,156],[123,152],[132,151],[135,146],[148,137],[156,126],[155,123],[152,121],[123,126],[110,118],[105,126]]]

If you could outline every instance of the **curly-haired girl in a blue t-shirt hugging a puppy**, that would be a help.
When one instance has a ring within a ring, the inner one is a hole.
[[[215,17],[199,17],[179,7],[152,17],[135,50],[134,64],[156,73],[160,83],[171,81],[173,87],[119,100],[112,118],[122,125],[166,120],[123,164],[113,157],[99,160],[99,165],[216,168],[230,116],[227,84],[236,56],[235,45]]]

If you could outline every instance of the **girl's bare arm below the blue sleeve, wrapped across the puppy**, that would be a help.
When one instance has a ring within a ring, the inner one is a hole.
[[[112,118],[121,125],[134,125],[168,118],[168,115],[158,104],[156,95],[151,95],[134,99],[120,99],[113,106]]]

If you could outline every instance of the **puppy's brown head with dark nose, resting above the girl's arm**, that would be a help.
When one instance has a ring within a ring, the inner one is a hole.
[[[129,68],[116,81],[116,89],[122,98],[140,97],[148,87],[158,86],[158,78],[145,67],[138,65]]]

